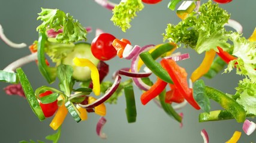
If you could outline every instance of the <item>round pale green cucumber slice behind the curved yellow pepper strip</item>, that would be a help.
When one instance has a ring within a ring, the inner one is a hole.
[[[75,57],[87,58],[92,63],[94,63],[95,66],[97,66],[97,64],[100,62],[100,60],[98,60],[97,58],[94,57],[94,55],[92,55],[91,45],[86,42],[76,43],[76,45],[74,47],[74,51],[71,52],[70,54],[68,54],[67,57],[65,57],[62,60],[62,64],[68,64],[73,67],[73,70],[74,70],[73,78],[74,79],[79,80],[81,82],[91,80],[91,70],[89,69],[89,67],[75,66],[73,63],[73,59]]]

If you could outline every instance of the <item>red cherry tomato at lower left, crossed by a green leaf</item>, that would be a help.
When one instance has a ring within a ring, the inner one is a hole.
[[[52,93],[53,93],[52,91],[46,91],[46,92],[40,94],[39,97],[45,97],[45,96],[50,95]],[[54,101],[54,102],[51,102],[49,104],[43,104],[41,102],[39,102],[39,104],[40,104],[40,106],[43,110],[44,116],[46,116],[46,117],[53,116],[53,114],[55,114],[56,110],[58,110],[57,100]]]

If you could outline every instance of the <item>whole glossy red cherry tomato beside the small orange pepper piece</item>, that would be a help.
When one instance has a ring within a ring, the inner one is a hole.
[[[115,36],[109,33],[102,33],[94,38],[91,44],[91,51],[98,60],[106,61],[116,56],[116,49],[112,46]]]

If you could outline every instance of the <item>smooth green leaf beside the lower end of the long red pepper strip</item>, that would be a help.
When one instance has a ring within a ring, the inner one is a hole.
[[[202,79],[195,81],[193,86],[193,96],[201,109],[210,113],[210,100],[206,95],[205,85]]]

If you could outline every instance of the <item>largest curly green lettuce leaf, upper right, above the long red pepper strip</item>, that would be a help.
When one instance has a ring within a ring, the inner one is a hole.
[[[230,32],[225,30],[224,24],[228,23],[229,18],[227,11],[208,1],[201,5],[198,13],[189,14],[176,26],[168,24],[163,34],[164,40],[190,46],[198,54],[210,49],[218,51],[217,46],[227,49],[230,47],[227,43]]]

